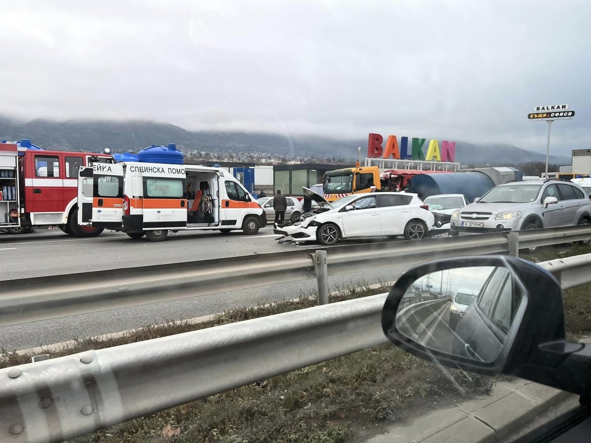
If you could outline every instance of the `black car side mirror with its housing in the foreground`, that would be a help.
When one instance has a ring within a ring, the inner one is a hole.
[[[392,286],[382,330],[423,360],[587,390],[591,344],[565,340],[560,284],[526,260],[469,256],[415,266]]]

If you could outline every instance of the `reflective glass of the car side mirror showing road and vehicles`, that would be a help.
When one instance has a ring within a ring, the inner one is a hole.
[[[431,350],[492,362],[519,301],[507,268],[445,269],[413,282],[395,322],[398,331]]]

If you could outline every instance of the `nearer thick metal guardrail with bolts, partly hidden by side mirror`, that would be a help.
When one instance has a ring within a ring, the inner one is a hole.
[[[538,265],[559,273],[564,287],[591,283],[591,254],[558,261]],[[63,441],[387,343],[381,328],[386,297],[1,369],[0,441]]]

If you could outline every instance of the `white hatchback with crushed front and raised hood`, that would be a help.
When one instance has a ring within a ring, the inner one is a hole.
[[[328,203],[305,188],[307,195],[324,206],[304,214],[296,223],[275,226],[280,241],[317,241],[334,245],[349,237],[397,237],[407,240],[427,236],[435,222],[428,206],[410,193],[353,194]]]

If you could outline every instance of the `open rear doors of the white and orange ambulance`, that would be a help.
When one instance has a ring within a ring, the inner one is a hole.
[[[89,197],[89,171],[92,170],[92,198]],[[80,168],[78,183],[79,224],[95,228],[121,229],[123,226],[123,165],[95,163],[92,168]],[[88,204],[92,204],[89,206]],[[86,210],[85,210],[86,209]],[[82,223],[80,223],[82,222]]]

